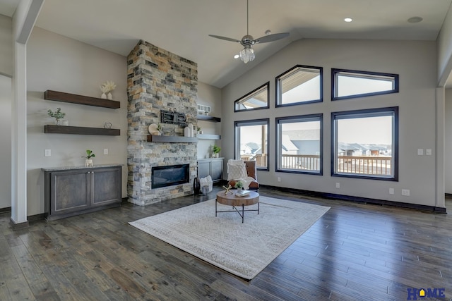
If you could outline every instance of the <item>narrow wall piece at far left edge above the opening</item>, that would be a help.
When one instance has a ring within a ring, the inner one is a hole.
[[[0,15],[0,74],[13,75],[13,19]]]

